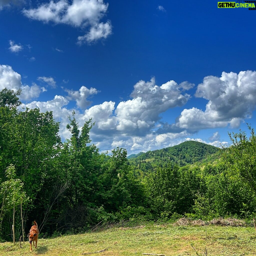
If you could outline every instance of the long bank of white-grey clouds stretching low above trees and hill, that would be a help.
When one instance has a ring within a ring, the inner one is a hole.
[[[162,123],[161,113],[184,106],[191,98],[185,91],[191,89],[194,84],[177,84],[170,80],[157,85],[155,78],[147,82],[140,80],[134,85],[131,99],[121,101],[117,105],[113,101],[105,101],[91,107],[89,98],[99,93],[96,88],[63,88],[66,96],[56,95],[52,100],[32,101],[23,106],[38,107],[42,112],[53,111],[55,120],[60,122],[59,133],[63,140],[70,137],[66,125],[69,123],[67,117],[73,110],[76,112],[80,129],[85,121],[92,118],[95,126],[90,136],[101,151],[119,146],[126,148],[131,154],[174,146],[187,140],[219,147],[220,144],[227,145],[228,142],[220,141],[218,131],[209,137],[208,142],[192,136],[201,129],[228,125],[237,127],[244,119],[251,118],[256,105],[255,83],[255,71],[241,71],[238,74],[223,72],[220,78],[205,77],[197,86],[195,97],[208,100],[206,110],[202,111],[196,106],[183,109],[173,124]],[[36,98],[40,92],[45,91],[45,88],[40,88],[34,83],[31,86],[23,85],[20,74],[10,66],[0,65],[0,90],[4,87],[14,91],[22,89],[20,99],[25,101]],[[69,102],[76,102],[77,107],[69,108]]]

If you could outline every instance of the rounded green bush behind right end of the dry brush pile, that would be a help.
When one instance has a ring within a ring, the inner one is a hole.
[[[252,190],[244,186],[239,176],[230,176],[224,171],[216,175],[208,174],[203,180],[194,207],[199,218],[239,216],[244,204],[253,210]]]

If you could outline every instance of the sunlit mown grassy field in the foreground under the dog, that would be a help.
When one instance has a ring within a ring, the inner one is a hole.
[[[106,250],[104,250],[106,249]],[[98,256],[165,254],[166,256],[242,256],[256,255],[256,233],[252,227],[218,225],[153,225],[118,228],[85,234],[39,239],[37,248],[29,251],[28,241],[13,245],[0,243],[1,256],[82,255],[102,252]]]

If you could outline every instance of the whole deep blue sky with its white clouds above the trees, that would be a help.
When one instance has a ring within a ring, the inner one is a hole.
[[[217,1],[0,0],[0,90],[68,115],[101,152],[186,140],[229,143],[255,127],[256,11]]]

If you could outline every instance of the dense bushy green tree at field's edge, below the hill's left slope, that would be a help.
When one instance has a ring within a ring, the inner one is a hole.
[[[160,168],[148,176],[147,187],[156,219],[190,212],[200,187],[199,168]]]

